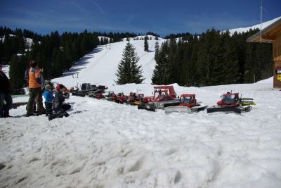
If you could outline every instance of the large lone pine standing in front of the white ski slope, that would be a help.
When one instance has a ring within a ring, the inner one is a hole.
[[[126,44],[122,56],[116,73],[117,81],[115,82],[117,84],[141,84],[145,80],[142,75],[143,70],[141,70],[141,65],[137,65],[139,57],[130,42]]]

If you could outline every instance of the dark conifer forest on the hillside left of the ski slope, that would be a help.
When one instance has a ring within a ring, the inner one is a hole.
[[[103,36],[98,39],[98,36]],[[97,45],[119,42],[124,37],[136,37],[130,32],[64,32],[38,35],[30,30],[0,27],[0,63],[10,64],[9,76],[15,93],[22,93],[25,84],[24,75],[30,60],[38,62],[44,68],[44,78],[50,80],[60,77],[70,69],[79,58]],[[108,38],[107,38],[108,37]],[[27,38],[32,39],[32,42]]]

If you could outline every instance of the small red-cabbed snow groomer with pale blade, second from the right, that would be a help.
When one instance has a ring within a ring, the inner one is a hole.
[[[204,111],[207,106],[197,101],[195,94],[182,94],[180,98],[180,106],[169,106],[165,108],[165,113],[193,113]]]

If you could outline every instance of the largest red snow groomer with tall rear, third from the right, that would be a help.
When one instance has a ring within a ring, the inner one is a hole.
[[[173,86],[155,86],[154,89],[150,101],[147,104],[141,102],[138,105],[138,109],[155,111],[156,108],[164,109],[167,106],[178,106],[180,104],[180,101],[176,99],[176,92]]]

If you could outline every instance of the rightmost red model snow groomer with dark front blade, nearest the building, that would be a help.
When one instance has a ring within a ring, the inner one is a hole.
[[[242,106],[239,93],[227,92],[221,96],[221,101],[218,101],[217,106],[207,108],[207,113],[213,112],[234,112],[241,113],[251,111],[251,106]]]

